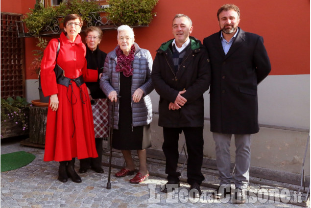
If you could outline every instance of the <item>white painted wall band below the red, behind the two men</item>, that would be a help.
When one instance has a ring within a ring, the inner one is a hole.
[[[204,117],[210,117],[209,91],[204,93]],[[158,112],[159,95],[151,92]],[[310,129],[310,75],[268,76],[258,86],[260,124]]]

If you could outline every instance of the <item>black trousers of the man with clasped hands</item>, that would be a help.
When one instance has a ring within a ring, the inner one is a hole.
[[[185,134],[188,163],[187,163],[187,182],[188,184],[204,181],[201,173],[203,162],[203,127],[183,127],[183,128],[166,128],[163,127],[164,142],[162,145],[166,157],[165,173],[167,180],[179,181],[180,173],[177,172],[177,163],[179,158],[178,140],[179,134]]]

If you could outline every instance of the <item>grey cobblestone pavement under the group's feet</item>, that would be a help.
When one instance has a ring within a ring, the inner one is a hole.
[[[19,169],[1,173],[1,208],[301,208],[284,203],[299,200],[295,194],[298,186],[256,178],[251,178],[254,183],[250,183],[248,187],[256,190],[256,194],[248,197],[248,203],[234,204],[229,198],[214,201],[210,197],[217,184],[217,172],[206,168],[202,168],[205,181],[201,185],[203,194],[200,199],[193,200],[188,197],[189,185],[186,183],[182,183],[179,192],[174,195],[166,194],[160,191],[161,185],[167,182],[164,162],[152,159],[148,159],[149,180],[139,185],[129,183],[132,176],[116,178],[114,173],[119,169],[112,168],[111,189],[106,189],[107,166],[103,166],[105,171],[103,174],[92,170],[79,174],[82,178],[81,184],[73,183],[71,179],[67,183],[61,183],[57,180],[59,163],[43,162],[43,149],[21,146],[19,141],[1,142],[1,154],[22,150],[34,154],[36,159]],[[114,153],[114,156],[114,167],[122,166],[123,159],[120,154]],[[106,164],[108,161],[108,157],[104,155],[103,163]],[[78,166],[79,162],[76,162],[76,171]],[[181,177],[184,182],[185,174],[184,170]],[[264,190],[276,189],[282,197],[285,195],[285,198],[280,200],[278,194],[276,198],[279,199],[276,201],[271,200],[273,197],[257,198],[259,189],[263,190],[261,194],[265,194]],[[303,193],[302,200],[304,195]]]

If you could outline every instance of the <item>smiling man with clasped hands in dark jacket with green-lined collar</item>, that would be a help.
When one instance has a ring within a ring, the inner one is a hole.
[[[178,139],[185,134],[188,166],[187,182],[191,185],[193,197],[201,194],[200,184],[203,162],[203,93],[208,90],[211,78],[209,57],[206,49],[197,39],[190,37],[191,19],[177,14],[173,20],[175,39],[162,44],[153,61],[151,78],[160,95],[159,126],[163,126],[166,156],[167,184],[162,191],[179,187],[177,172]]]

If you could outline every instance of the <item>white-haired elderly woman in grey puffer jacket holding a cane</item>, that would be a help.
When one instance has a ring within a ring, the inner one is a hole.
[[[118,27],[118,46],[107,54],[100,88],[108,96],[109,118],[114,116],[112,147],[122,151],[126,166],[116,177],[133,175],[135,164],[131,150],[137,150],[139,172],[130,180],[139,184],[148,179],[146,148],[151,146],[150,122],[152,107],[149,93],[152,57],[148,50],[134,42],[133,29],[127,25]],[[115,115],[112,102],[115,100]],[[109,119],[109,122],[111,120]]]

